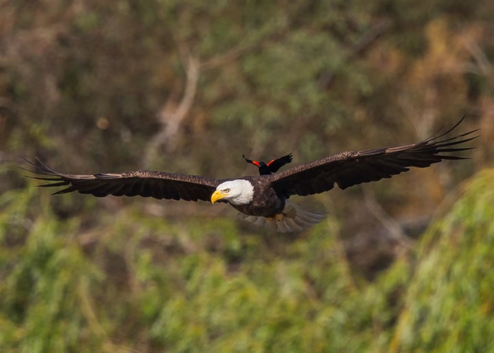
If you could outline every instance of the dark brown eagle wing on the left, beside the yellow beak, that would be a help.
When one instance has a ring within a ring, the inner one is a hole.
[[[39,159],[36,159],[36,163],[27,162],[34,166],[35,170],[31,172],[43,175],[43,177],[32,178],[53,182],[40,186],[67,186],[54,194],[80,192],[98,197],[108,195],[143,196],[158,199],[210,201],[211,194],[220,184],[217,179],[187,174],[153,172],[151,170],[86,175],[63,174],[49,168]]]

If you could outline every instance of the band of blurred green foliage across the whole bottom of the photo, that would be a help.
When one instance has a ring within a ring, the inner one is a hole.
[[[305,236],[171,225],[124,207],[96,227],[2,195],[3,352],[491,352],[494,170],[464,183],[374,282],[335,219]],[[46,207],[49,209],[49,207]]]

